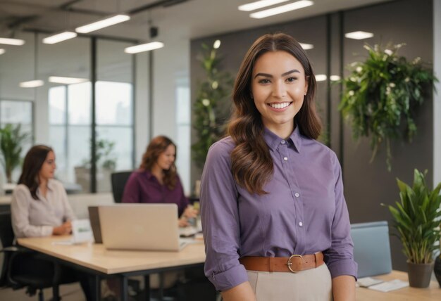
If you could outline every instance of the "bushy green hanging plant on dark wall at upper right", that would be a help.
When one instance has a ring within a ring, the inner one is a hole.
[[[368,58],[350,65],[352,72],[342,80],[345,89],[339,105],[345,119],[352,122],[355,140],[371,136],[371,162],[385,141],[389,171],[390,140],[406,136],[411,141],[416,134],[414,110],[423,103],[433,81],[437,81],[432,71],[423,67],[420,58],[409,62],[397,55],[402,45],[384,51],[378,45],[365,45]]]

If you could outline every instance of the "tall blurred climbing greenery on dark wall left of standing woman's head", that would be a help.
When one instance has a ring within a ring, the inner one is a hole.
[[[206,154],[211,144],[225,134],[225,123],[230,108],[226,101],[230,97],[232,77],[228,72],[221,72],[216,41],[211,47],[202,44],[203,57],[201,66],[206,72],[206,79],[199,83],[197,98],[193,105],[193,128],[196,130],[197,142],[192,145],[192,157],[199,167],[204,167]]]

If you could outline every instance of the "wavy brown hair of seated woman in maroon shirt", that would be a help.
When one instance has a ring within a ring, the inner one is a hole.
[[[175,151],[178,153],[178,148],[176,148],[175,143],[173,143],[170,138],[166,136],[156,136],[154,139],[151,139],[149,145],[147,146],[147,150],[145,151],[144,155],[142,155],[142,161],[141,165],[139,165],[139,169],[151,172],[151,168],[158,161],[159,155],[165,152],[170,145],[175,146]],[[175,188],[177,178],[175,161],[168,170],[163,170],[163,173],[164,184],[166,184],[169,189]]]

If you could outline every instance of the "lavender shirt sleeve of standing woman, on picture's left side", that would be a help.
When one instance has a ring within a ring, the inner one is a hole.
[[[239,262],[240,220],[237,188],[231,174],[226,143],[211,146],[201,178],[201,221],[206,261],[204,271],[216,290],[248,281]]]

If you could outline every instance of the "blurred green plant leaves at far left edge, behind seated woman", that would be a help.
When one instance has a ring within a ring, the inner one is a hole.
[[[12,172],[21,164],[21,151],[23,143],[29,138],[29,134],[20,132],[21,126],[6,124],[0,129],[0,151],[3,155],[1,164],[5,169],[8,183],[12,183]]]

